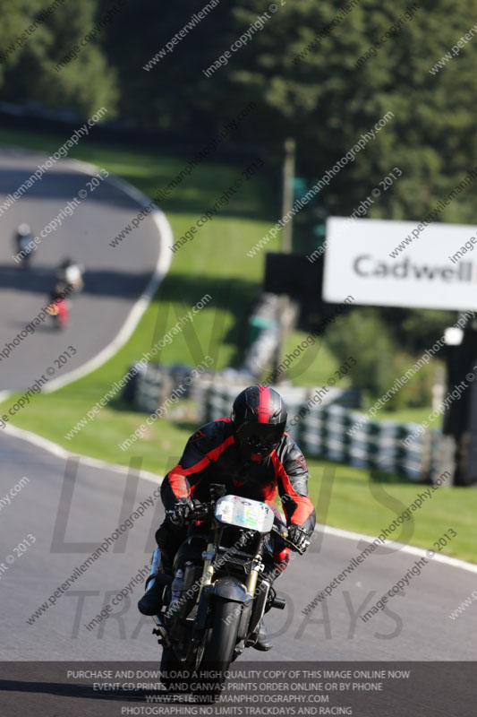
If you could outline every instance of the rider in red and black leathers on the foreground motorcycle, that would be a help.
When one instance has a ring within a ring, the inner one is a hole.
[[[278,491],[288,539],[301,550],[308,548],[316,522],[308,497],[308,468],[294,439],[285,433],[285,425],[286,408],[280,394],[254,385],[235,398],[230,418],[211,421],[189,438],[181,460],[161,485],[166,519],[156,540],[163,573],[173,573],[175,552],[186,537],[192,498],[207,502],[209,485],[216,482],[224,483],[227,493],[266,502],[281,522],[273,505]],[[274,553],[275,575],[285,569],[289,552]],[[143,615],[158,612],[161,593],[162,588],[154,583],[143,595],[138,603]],[[254,647],[261,651],[272,647],[263,621]]]

